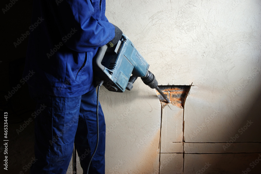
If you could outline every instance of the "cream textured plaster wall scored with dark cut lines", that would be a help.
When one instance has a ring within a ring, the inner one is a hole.
[[[156,92],[140,79],[123,94],[103,88],[106,173],[261,171],[250,165],[261,154],[260,0],[114,0],[106,8],[160,85],[194,85],[185,108],[165,106],[162,119]]]

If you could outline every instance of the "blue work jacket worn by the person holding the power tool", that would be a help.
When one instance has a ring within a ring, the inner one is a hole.
[[[34,0],[29,29],[23,78],[30,87],[57,97],[94,88],[92,59],[115,36],[105,0]]]

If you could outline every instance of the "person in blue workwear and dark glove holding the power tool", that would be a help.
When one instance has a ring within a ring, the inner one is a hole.
[[[37,24],[37,25],[36,25]],[[105,17],[105,0],[34,0],[25,77],[37,101],[31,174],[66,173],[73,147],[87,172],[97,140],[92,59],[122,31]],[[105,173],[105,121],[99,104],[99,145],[89,173]]]

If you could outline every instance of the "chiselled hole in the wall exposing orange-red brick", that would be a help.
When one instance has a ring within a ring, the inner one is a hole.
[[[159,85],[159,89],[168,97],[171,104],[184,108],[186,98],[190,91],[191,85]],[[156,90],[159,101],[161,102],[162,107],[164,108],[167,105],[166,100],[159,94]]]

